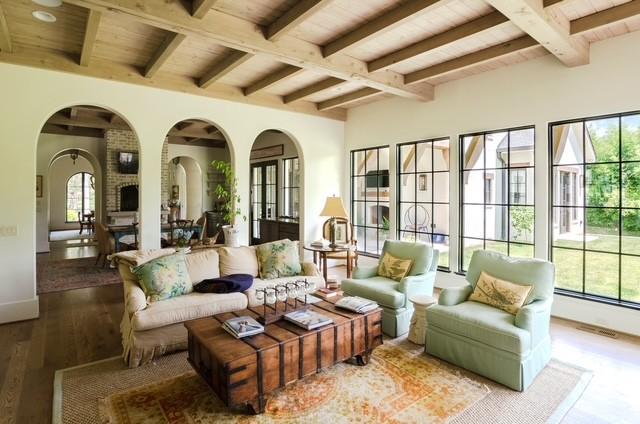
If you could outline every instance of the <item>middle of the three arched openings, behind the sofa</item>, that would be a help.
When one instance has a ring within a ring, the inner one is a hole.
[[[202,119],[171,127],[162,149],[163,245],[224,241],[224,205],[215,194],[223,177],[214,161],[231,161],[231,146],[219,127]],[[178,228],[193,230],[191,240],[177,238]]]

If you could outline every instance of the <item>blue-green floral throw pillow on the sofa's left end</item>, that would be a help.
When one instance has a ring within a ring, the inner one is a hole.
[[[184,254],[162,256],[131,270],[148,302],[171,299],[193,291]]]

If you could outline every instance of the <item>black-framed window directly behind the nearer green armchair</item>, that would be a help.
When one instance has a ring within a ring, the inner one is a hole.
[[[460,137],[460,269],[475,250],[533,257],[533,127]]]

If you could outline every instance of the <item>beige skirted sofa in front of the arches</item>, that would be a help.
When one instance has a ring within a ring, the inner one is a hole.
[[[150,258],[171,253],[145,252],[138,256],[137,264]],[[131,273],[132,261],[116,258],[120,276],[124,284],[124,316],[120,324],[122,332],[123,357],[129,367],[137,367],[166,353],[187,348],[185,321],[203,318],[223,312],[258,306],[255,289],[280,282],[293,281],[298,277],[273,280],[258,278],[258,261],[254,247],[222,247],[202,249],[186,256],[187,269],[193,284],[208,278],[229,274],[251,274],[252,287],[244,293],[196,293],[148,303],[138,280]],[[325,281],[312,263],[302,263],[302,276],[313,281],[317,287],[324,287]]]

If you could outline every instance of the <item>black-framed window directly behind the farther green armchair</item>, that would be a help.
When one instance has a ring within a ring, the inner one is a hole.
[[[398,238],[440,251],[449,268],[449,139],[398,145]]]

